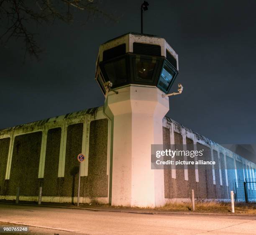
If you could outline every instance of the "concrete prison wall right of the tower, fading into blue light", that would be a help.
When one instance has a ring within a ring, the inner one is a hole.
[[[187,150],[202,150],[209,159],[215,161],[215,169],[164,169],[164,196],[166,202],[186,201],[191,198],[194,189],[197,199],[230,199],[230,191],[236,192],[235,181],[256,178],[256,165],[229,151],[219,144],[195,133],[169,117],[163,119],[163,143],[187,145]],[[189,160],[189,159],[188,159]],[[200,160],[200,157],[198,158]],[[238,185],[236,185],[238,187]],[[243,185],[239,185],[240,188]],[[248,184],[249,190],[256,196],[256,183]],[[244,197],[243,197],[244,200]]]

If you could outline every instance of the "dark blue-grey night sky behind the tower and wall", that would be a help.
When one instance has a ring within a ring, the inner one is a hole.
[[[255,0],[148,0],[144,33],[161,36],[179,54],[182,95],[168,116],[220,144],[255,143]],[[108,0],[100,7],[119,22],[96,17],[38,28],[40,61],[23,64],[23,41],[0,47],[0,129],[102,106],[95,82],[101,43],[140,32],[141,0]]]

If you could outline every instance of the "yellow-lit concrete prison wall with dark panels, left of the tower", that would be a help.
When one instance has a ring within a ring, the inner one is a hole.
[[[90,140],[90,141],[89,141]],[[0,130],[0,199],[77,200],[79,162],[81,202],[108,203],[108,120],[102,108]]]

